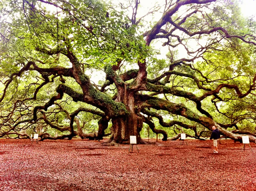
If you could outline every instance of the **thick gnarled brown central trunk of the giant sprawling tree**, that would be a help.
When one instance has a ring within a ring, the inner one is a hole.
[[[117,88],[116,103],[124,104],[126,111],[122,115],[112,116],[112,135],[109,143],[130,143],[130,136],[136,136],[137,143],[145,143],[140,138],[140,131],[143,126],[143,120],[136,111],[137,104],[134,101],[134,95],[146,84],[146,62],[138,61],[139,70],[130,70],[123,75],[117,75],[122,60],[118,60],[117,65],[106,65],[106,80],[110,84],[115,83]],[[131,83],[126,81],[135,78]],[[114,113],[114,112],[112,112]]]

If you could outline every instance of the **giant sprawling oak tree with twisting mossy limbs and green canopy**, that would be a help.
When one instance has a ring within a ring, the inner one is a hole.
[[[255,142],[255,21],[232,1],[138,5],[2,1],[0,137],[42,125],[41,140],[102,139],[111,123],[109,144],[145,143],[145,123],[163,141],[163,127],[200,139],[216,126]]]

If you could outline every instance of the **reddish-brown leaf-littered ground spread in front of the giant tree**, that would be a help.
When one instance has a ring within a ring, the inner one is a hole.
[[[256,145],[161,141],[104,147],[97,141],[0,140],[0,191],[256,190]]]

